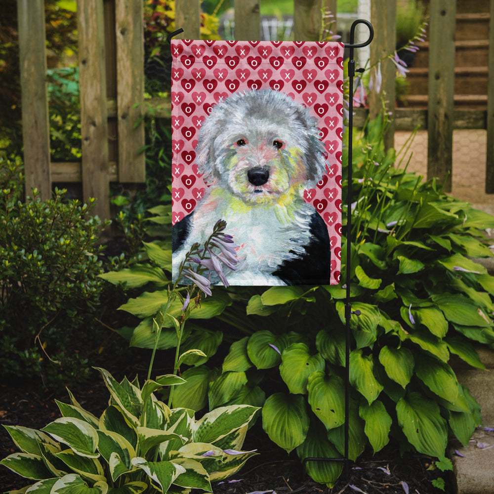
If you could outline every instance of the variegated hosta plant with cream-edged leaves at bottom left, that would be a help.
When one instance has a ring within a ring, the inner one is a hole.
[[[41,430],[5,426],[20,453],[1,464],[35,481],[32,494],[138,494],[211,491],[211,481],[234,474],[254,451],[241,451],[257,409],[220,407],[201,419],[189,409],[169,409],[154,392],[182,385],[174,374],[118,382],[99,369],[110,392],[96,417],[69,392],[57,402],[61,418]]]

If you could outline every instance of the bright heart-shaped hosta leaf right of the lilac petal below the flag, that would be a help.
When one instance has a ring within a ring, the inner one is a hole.
[[[293,394],[306,394],[309,375],[323,371],[326,365],[322,355],[310,355],[309,347],[304,343],[292,343],[281,358],[280,375]]]

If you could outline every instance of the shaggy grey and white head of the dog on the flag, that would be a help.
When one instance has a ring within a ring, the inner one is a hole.
[[[325,171],[315,119],[272,90],[235,93],[216,105],[196,150],[206,181],[245,203],[289,200]]]

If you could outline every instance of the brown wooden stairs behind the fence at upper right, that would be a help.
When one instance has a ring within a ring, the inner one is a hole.
[[[454,107],[458,110],[487,108],[489,9],[489,0],[456,3]],[[407,75],[410,94],[404,101],[408,107],[427,108],[429,43],[418,46],[420,50]]]

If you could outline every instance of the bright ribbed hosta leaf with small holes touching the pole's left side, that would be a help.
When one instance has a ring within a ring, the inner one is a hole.
[[[316,371],[309,376],[309,405],[326,429],[339,427],[345,421],[345,387],[335,375]]]

